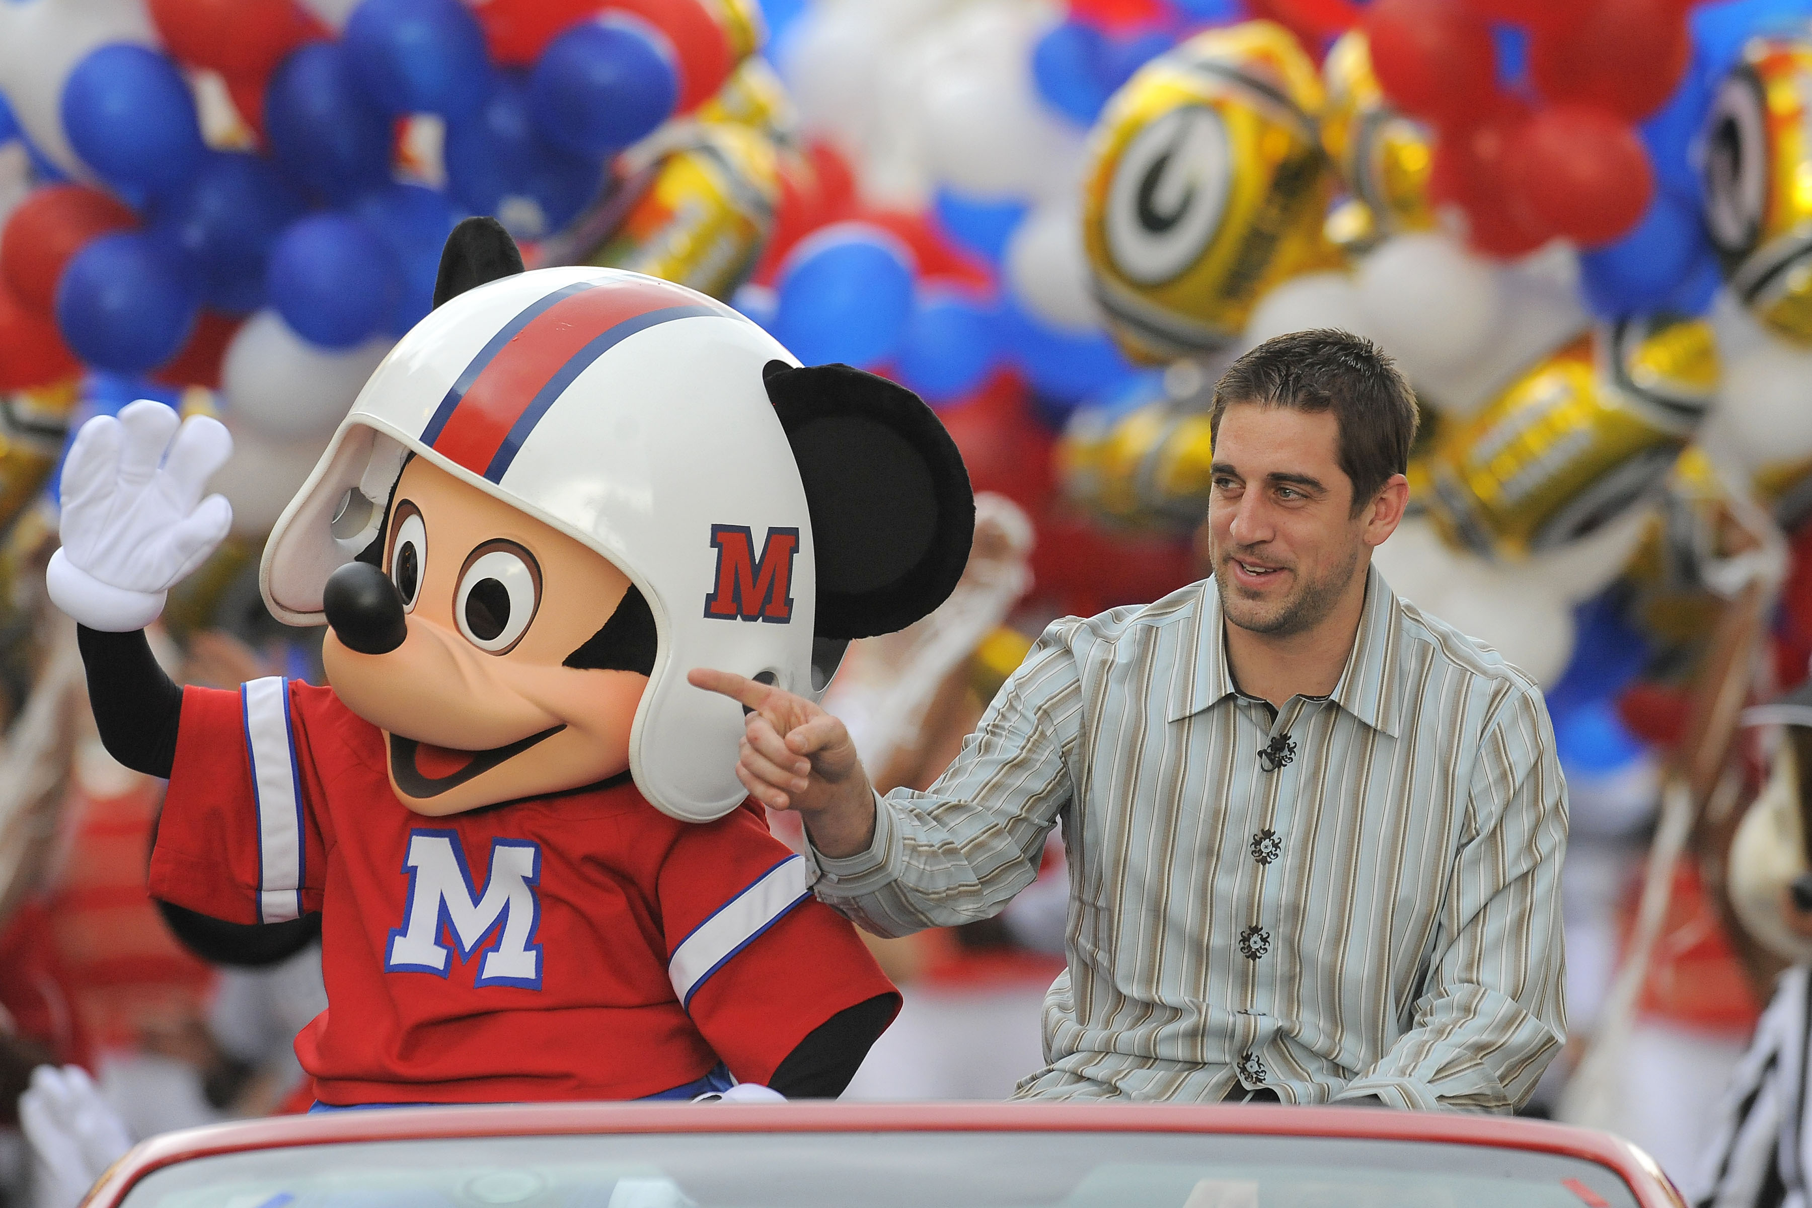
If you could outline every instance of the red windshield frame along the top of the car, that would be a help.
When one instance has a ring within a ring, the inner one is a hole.
[[[1582,1157],[1616,1170],[1642,1208],[1685,1208],[1660,1166],[1605,1132],[1535,1119],[1386,1108],[1169,1103],[522,1103],[281,1116],[167,1132],[138,1145],[83,1208],[114,1208],[141,1177],[212,1154],[435,1137],[672,1132],[1205,1132],[1444,1141]]]

